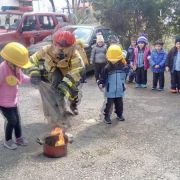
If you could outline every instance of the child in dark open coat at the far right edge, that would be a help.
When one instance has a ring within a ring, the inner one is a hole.
[[[171,92],[180,93],[180,36],[176,37],[175,47],[167,55],[166,70],[171,72]]]

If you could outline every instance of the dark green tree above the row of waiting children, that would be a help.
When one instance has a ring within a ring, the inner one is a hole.
[[[120,34],[122,44],[127,45],[132,34],[146,32],[154,41],[174,30],[172,22],[179,20],[178,3],[179,0],[93,0],[93,8],[96,18]],[[167,18],[171,23],[167,23]]]

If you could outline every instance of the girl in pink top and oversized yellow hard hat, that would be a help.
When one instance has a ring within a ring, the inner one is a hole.
[[[27,140],[22,137],[17,95],[18,86],[30,81],[21,71],[30,65],[30,61],[27,49],[16,42],[8,43],[0,55],[4,60],[0,64],[0,111],[6,119],[4,146],[13,150],[17,145],[27,145]],[[12,140],[13,130],[15,142]]]

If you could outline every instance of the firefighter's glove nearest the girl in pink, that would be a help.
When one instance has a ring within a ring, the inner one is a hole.
[[[33,85],[39,85],[39,83],[41,82],[41,73],[37,67],[29,69],[29,76]]]

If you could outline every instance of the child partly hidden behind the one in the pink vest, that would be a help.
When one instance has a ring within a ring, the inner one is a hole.
[[[133,63],[133,60],[134,60],[134,48],[136,47],[137,45],[137,38],[135,35],[133,35],[131,37],[131,45],[129,46],[128,48],[128,53],[127,53],[127,56],[126,56],[126,60],[127,60],[127,64],[130,66],[130,64]],[[129,71],[129,80],[128,82],[129,83],[133,83],[134,79],[135,79],[135,71],[133,71],[133,68],[130,67],[130,71]]]

